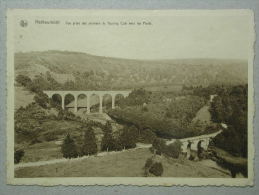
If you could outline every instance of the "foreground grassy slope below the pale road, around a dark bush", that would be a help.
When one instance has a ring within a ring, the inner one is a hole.
[[[19,168],[15,177],[143,177],[144,165],[152,154],[149,149],[135,149],[105,156],[89,157],[52,165]],[[158,156],[164,168],[163,177],[230,177],[201,162]]]

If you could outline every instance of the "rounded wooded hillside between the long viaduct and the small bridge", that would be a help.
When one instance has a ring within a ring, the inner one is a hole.
[[[180,139],[217,131],[209,122],[192,121],[197,111],[206,104],[207,100],[197,95],[165,96],[136,89],[121,100],[120,107],[108,114],[119,123],[149,129],[158,137]]]

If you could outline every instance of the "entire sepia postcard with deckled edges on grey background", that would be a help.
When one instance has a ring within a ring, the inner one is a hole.
[[[7,11],[7,183],[253,185],[251,10]]]

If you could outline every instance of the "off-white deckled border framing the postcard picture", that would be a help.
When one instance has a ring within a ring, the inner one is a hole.
[[[248,60],[248,178],[148,178],[148,177],[47,177],[47,178],[15,178],[14,177],[14,31],[13,21],[18,15],[58,15],[66,16],[84,15],[84,10],[55,10],[55,9],[9,9],[7,13],[7,183],[12,185],[149,185],[149,186],[252,186],[254,184],[254,87],[253,87],[253,61],[254,61],[254,14],[248,9],[240,10],[88,10],[91,14],[165,14],[165,15],[188,15],[188,14],[244,14],[251,17],[251,41],[250,57]]]

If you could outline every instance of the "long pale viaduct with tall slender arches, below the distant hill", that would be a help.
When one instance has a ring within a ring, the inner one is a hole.
[[[87,97],[87,113],[90,113],[91,107],[91,96],[97,95],[99,97],[99,113],[103,113],[103,97],[105,95],[110,95],[112,97],[112,109],[115,108],[115,97],[116,95],[122,95],[124,98],[127,97],[131,91],[43,91],[48,95],[49,98],[52,98],[54,95],[60,95],[61,97],[61,106],[62,109],[65,109],[65,98],[66,95],[72,95],[74,97],[74,112],[77,112],[78,96],[85,95]]]

